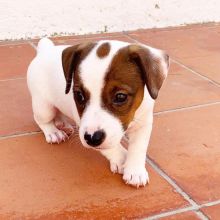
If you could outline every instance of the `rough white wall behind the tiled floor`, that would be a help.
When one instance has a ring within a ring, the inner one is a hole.
[[[0,0],[0,39],[220,21],[220,0]]]

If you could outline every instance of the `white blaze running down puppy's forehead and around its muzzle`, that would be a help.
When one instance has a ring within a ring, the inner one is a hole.
[[[107,56],[99,58],[96,50],[105,42],[109,42],[110,52]],[[94,132],[102,129],[106,134],[105,141],[103,142],[103,145],[106,147],[114,147],[123,136],[120,120],[102,108],[101,95],[105,76],[113,57],[120,48],[127,45],[128,43],[119,41],[100,41],[80,64],[79,76],[83,86],[90,93],[90,99],[81,118],[79,131],[80,139],[84,146],[87,146],[84,140],[85,132],[92,135]]]

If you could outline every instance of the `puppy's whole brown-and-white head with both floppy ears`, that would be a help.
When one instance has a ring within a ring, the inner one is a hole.
[[[80,139],[85,147],[117,146],[144,97],[152,99],[167,76],[169,57],[144,45],[119,41],[79,44],[63,51],[66,94],[73,81]]]

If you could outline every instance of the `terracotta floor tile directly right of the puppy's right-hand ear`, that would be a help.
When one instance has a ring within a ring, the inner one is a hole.
[[[155,112],[220,101],[220,87],[171,62]]]

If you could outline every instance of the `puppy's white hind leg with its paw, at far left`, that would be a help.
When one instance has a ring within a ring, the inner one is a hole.
[[[60,143],[68,139],[68,135],[59,130],[54,124],[57,110],[47,101],[32,98],[34,119],[44,133],[46,141],[50,144]]]

